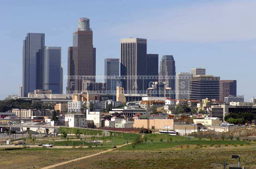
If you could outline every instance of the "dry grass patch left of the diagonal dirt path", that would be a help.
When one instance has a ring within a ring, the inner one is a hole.
[[[0,168],[41,168],[87,156],[101,150],[85,149],[23,149],[0,151]]]

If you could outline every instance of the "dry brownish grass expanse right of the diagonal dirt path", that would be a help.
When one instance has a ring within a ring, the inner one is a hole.
[[[256,168],[255,147],[236,149],[194,149],[179,151],[112,151],[57,168],[216,168],[211,163],[237,162],[232,154],[240,154],[246,168]]]

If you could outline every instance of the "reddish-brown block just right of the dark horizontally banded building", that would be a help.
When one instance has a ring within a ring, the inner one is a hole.
[[[236,80],[220,81],[220,100],[224,101],[229,95],[236,96]]]

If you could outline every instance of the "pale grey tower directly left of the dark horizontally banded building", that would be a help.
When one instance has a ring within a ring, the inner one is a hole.
[[[175,78],[175,99],[188,99],[188,81],[191,73],[178,73]]]

